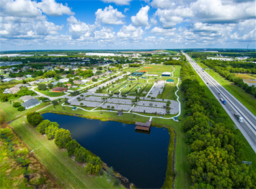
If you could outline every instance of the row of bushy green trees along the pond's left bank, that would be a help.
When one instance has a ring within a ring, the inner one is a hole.
[[[38,112],[27,113],[27,121],[42,135],[46,135],[48,140],[55,139],[55,144],[59,149],[66,149],[68,156],[75,156],[77,162],[86,162],[85,171],[89,175],[102,173],[102,161],[98,156],[91,156],[90,152],[83,148],[75,139],[72,139],[70,131],[59,128],[57,122],[44,120]]]

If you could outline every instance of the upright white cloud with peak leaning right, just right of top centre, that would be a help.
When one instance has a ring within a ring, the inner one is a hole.
[[[148,25],[148,15],[147,12],[150,10],[149,6],[141,7],[141,10],[136,14],[136,16],[132,16],[132,24],[136,27],[142,27]]]

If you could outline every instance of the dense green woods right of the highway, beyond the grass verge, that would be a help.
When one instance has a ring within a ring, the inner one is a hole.
[[[240,88],[244,89],[249,94],[256,97],[256,87],[249,86],[244,83],[242,78],[236,77],[234,73],[256,73],[255,63],[240,63],[240,62],[223,62],[223,61],[202,61],[203,64],[214,69],[217,73],[221,74],[227,80],[233,82]]]

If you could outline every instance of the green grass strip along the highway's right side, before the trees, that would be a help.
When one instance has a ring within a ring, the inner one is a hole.
[[[203,63],[200,63],[199,61],[197,61],[197,64],[202,68],[208,68],[208,66],[203,65]],[[208,70],[205,71],[208,72]],[[233,82],[229,82],[229,80],[223,78],[213,69],[210,69],[209,74],[256,116],[256,99],[253,95],[248,94],[245,90],[233,84]]]

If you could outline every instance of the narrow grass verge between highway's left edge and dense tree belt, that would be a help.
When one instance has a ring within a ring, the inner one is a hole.
[[[215,77],[216,78],[216,77]],[[201,78],[199,77],[199,75],[197,75],[197,79],[199,80],[201,86],[203,86],[205,93],[212,98],[213,101],[216,101],[216,105],[219,104],[218,100],[214,97],[214,95],[212,95],[212,92],[210,91],[210,89],[204,84],[203,80],[201,80]],[[227,112],[225,111],[225,109],[221,108],[221,112],[220,114],[224,114],[227,116],[227,120],[225,120],[225,122],[227,124],[230,125],[235,125],[233,120],[231,120],[231,118],[228,116]],[[251,145],[248,143],[248,141],[246,141],[246,139],[244,138],[244,135],[242,135],[242,133],[240,132],[239,129],[236,129],[235,133],[238,135],[238,137],[242,140],[242,142],[244,143],[243,146],[243,151],[242,151],[242,159],[246,160],[246,161],[251,161],[253,162],[253,164],[250,166],[251,171],[253,171],[254,173],[256,173],[256,154],[253,151],[253,148],[251,148]]]

